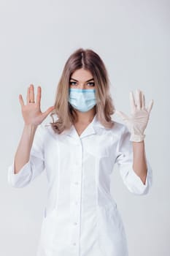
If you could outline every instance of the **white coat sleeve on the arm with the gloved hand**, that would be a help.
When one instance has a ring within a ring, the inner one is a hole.
[[[152,186],[152,168],[150,162],[147,161],[147,178],[145,184],[142,179],[135,173],[133,169],[133,145],[130,140],[131,133],[128,128],[123,125],[123,131],[120,135],[119,143],[117,144],[116,163],[120,171],[120,176],[123,178],[123,183],[130,192],[135,195],[144,195],[149,192]]]

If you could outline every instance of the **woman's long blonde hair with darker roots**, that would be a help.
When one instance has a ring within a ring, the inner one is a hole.
[[[57,115],[58,119],[50,123],[53,130],[61,134],[64,129],[69,129],[74,121],[77,120],[77,114],[70,105],[69,99],[69,80],[71,75],[77,69],[89,70],[96,84],[96,116],[104,127],[111,128],[114,125],[111,115],[115,112],[112,97],[109,94],[109,77],[104,62],[93,50],[79,48],[66,61],[63,67],[61,78],[55,96],[55,108],[50,116]]]

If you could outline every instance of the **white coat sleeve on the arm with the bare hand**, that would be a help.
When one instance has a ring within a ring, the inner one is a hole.
[[[26,187],[31,181],[39,176],[45,170],[45,158],[44,158],[44,135],[43,124],[39,124],[36,128],[34,135],[34,141],[31,147],[30,158],[28,162],[23,165],[18,173],[14,173],[15,159],[13,159],[12,165],[8,167],[7,181],[12,187]]]

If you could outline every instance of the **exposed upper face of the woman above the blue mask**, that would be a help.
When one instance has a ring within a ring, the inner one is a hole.
[[[95,89],[93,75],[89,70],[77,69],[71,75],[69,88],[77,89]]]

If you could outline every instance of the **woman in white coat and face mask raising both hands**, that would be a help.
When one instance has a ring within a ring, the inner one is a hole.
[[[97,53],[82,48],[66,61],[53,107],[41,112],[40,86],[36,101],[33,85],[26,105],[19,96],[24,128],[8,181],[25,187],[46,170],[48,195],[37,255],[128,255],[123,222],[110,194],[112,169],[117,163],[135,195],[147,194],[152,184],[144,129],[153,102],[145,108],[139,90],[130,99],[130,117],[117,111],[125,124],[112,121],[107,69]],[[53,122],[42,124],[49,113]]]

